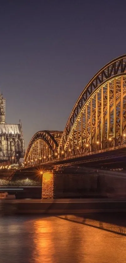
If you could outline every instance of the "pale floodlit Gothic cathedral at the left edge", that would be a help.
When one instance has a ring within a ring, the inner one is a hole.
[[[0,162],[16,163],[24,156],[24,140],[22,124],[8,124],[5,122],[6,100],[0,94]]]

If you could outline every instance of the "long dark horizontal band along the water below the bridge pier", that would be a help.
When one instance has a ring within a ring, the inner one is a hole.
[[[0,200],[1,214],[79,214],[126,212],[125,199]]]

